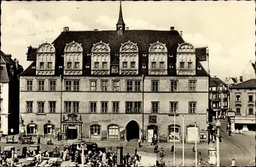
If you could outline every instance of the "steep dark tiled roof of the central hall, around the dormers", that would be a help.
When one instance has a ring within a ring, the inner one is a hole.
[[[143,54],[148,53],[148,49],[151,44],[156,43],[157,41],[166,44],[168,54],[173,55],[173,57],[168,57],[167,61],[169,64],[173,64],[173,68],[168,66],[168,75],[176,75],[176,51],[179,44],[183,43],[184,40],[180,36],[178,31],[155,31],[155,30],[127,30],[124,31],[123,35],[118,35],[117,31],[67,31],[62,32],[52,44],[54,44],[56,50],[56,65],[55,65],[55,75],[60,75],[61,71],[58,69],[58,66],[63,64],[63,51],[66,47],[66,44],[70,42],[77,42],[81,44],[83,49],[83,74],[89,74],[85,67],[90,66],[91,57],[87,56],[87,53],[91,53],[93,44],[96,44],[100,41],[109,44],[111,49],[111,64],[119,64],[119,56],[116,53],[119,53],[119,49],[122,44],[125,42],[131,41],[137,44],[139,48],[139,71],[147,75],[148,67],[146,69],[142,68],[141,64],[148,64],[147,57],[143,57]],[[30,47],[28,50],[28,60],[36,59],[36,48]],[[197,60],[197,65],[200,66],[199,60]],[[32,63],[34,64],[34,63]],[[35,65],[34,65],[35,66]],[[30,68],[31,67],[31,68]],[[32,66],[26,69],[22,75],[35,75],[35,70],[32,70]],[[201,66],[202,67],[202,66]],[[30,70],[30,71],[28,71]],[[205,69],[197,69],[197,75],[199,76],[208,76]]]

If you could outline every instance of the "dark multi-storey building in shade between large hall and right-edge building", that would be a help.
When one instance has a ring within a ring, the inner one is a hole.
[[[209,84],[209,98],[211,101],[211,108],[213,116],[220,118],[226,116],[229,108],[229,90],[228,86],[218,77],[210,78]]]

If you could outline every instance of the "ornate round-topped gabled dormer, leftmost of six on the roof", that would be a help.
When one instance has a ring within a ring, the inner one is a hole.
[[[50,43],[43,43],[37,48],[36,75],[54,75],[55,48]]]

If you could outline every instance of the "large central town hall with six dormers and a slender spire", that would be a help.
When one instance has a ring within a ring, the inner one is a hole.
[[[208,54],[207,54],[208,56]],[[174,27],[63,32],[29,47],[20,77],[20,115],[30,135],[86,140],[206,141],[209,75]],[[174,126],[174,114],[176,125]],[[174,137],[176,136],[176,137]]]

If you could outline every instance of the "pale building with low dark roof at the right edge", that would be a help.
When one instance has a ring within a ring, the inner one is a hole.
[[[229,89],[230,106],[236,112],[236,117],[231,118],[231,130],[255,130],[256,79],[246,80]]]

